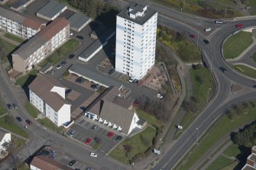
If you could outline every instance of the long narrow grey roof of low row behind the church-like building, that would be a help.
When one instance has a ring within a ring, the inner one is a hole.
[[[72,72],[76,72],[78,75],[82,75],[87,79],[92,79],[95,82],[100,82],[102,85],[105,85],[107,87],[115,85],[118,88],[120,88],[122,86],[121,83],[118,83],[112,79],[109,79],[105,75],[101,75],[97,72],[93,72],[90,69],[86,69],[86,67],[84,67],[82,64],[73,64],[73,66],[71,66],[69,70]]]

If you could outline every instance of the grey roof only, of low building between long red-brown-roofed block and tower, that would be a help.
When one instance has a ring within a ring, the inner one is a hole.
[[[91,18],[87,17],[85,14],[80,14],[79,12],[76,12],[73,14],[68,21],[70,22],[70,27],[75,27],[79,29],[83,26],[83,24],[86,24]]]

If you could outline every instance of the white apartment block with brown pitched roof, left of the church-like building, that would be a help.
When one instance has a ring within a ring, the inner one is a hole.
[[[29,101],[58,127],[70,121],[71,105],[65,100],[66,88],[50,75],[39,73],[28,86]]]

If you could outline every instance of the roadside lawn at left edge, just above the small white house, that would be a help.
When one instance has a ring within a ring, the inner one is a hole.
[[[21,129],[21,127],[18,127],[18,125],[15,123],[15,118],[9,115],[6,115],[5,117],[0,117],[0,127],[5,128],[6,130],[10,130],[11,132],[16,133],[20,136],[24,136],[25,138],[28,138],[28,133]]]

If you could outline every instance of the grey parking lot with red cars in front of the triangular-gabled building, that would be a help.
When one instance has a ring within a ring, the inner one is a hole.
[[[97,130],[92,130],[94,125],[98,125],[99,128]],[[92,120],[89,120],[86,117],[80,117],[79,120],[76,120],[70,130],[66,132],[66,135],[70,136],[72,130],[74,131],[73,139],[79,141],[80,143],[85,144],[86,140],[91,138],[92,143],[89,143],[89,146],[91,147],[96,144],[94,139],[100,139],[102,147],[99,150],[104,153],[109,152],[112,147],[118,144],[118,142],[115,141],[115,138],[116,136],[120,135],[119,133],[117,134],[115,130],[111,130],[102,123],[92,122]],[[115,135],[111,138],[108,137],[108,133],[110,131],[115,133]]]

